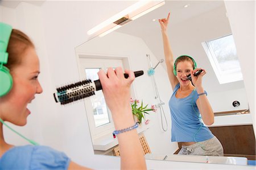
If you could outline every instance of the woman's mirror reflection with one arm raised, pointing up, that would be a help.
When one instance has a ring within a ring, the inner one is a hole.
[[[205,125],[214,123],[212,107],[207,99],[207,92],[202,86],[202,78],[207,73],[205,69],[196,68],[196,62],[191,56],[183,55],[174,61],[167,34],[167,18],[159,19],[162,30],[164,56],[168,77],[173,94],[169,101],[172,119],[172,142],[182,146],[179,154],[223,156],[220,141]],[[203,70],[199,76],[194,74]],[[192,82],[187,76],[191,74]]]

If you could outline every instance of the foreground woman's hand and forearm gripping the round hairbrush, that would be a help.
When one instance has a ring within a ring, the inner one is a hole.
[[[106,103],[112,112],[115,130],[122,130],[135,124],[130,106],[130,85],[135,76],[131,71],[126,70],[125,73],[129,74],[127,79],[123,76],[121,67],[115,70],[109,68],[108,76],[102,70],[98,72]],[[122,132],[117,138],[121,169],[146,169],[137,130]]]

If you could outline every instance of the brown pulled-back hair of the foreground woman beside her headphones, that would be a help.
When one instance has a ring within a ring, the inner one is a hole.
[[[22,31],[13,29],[7,47],[9,57],[5,67],[11,71],[16,65],[19,65],[22,61],[23,53],[28,47],[35,48],[30,38]]]

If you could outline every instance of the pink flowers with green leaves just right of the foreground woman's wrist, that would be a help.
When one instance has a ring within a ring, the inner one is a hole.
[[[147,125],[149,123],[149,120],[145,119],[145,114],[149,114],[148,111],[154,111],[156,112],[155,109],[155,105],[151,105],[151,107],[147,107],[148,104],[146,106],[143,106],[143,101],[141,102],[141,105],[139,105],[138,103],[139,100],[137,99],[133,99],[131,98],[131,110],[133,112],[134,118],[135,118],[135,122],[142,122],[142,119],[144,119],[145,124]]]

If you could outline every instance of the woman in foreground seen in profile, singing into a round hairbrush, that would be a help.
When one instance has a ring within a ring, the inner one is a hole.
[[[8,34],[8,31],[6,33],[4,30],[8,29],[10,29],[9,42],[2,40],[6,37],[4,34]],[[4,49],[5,43],[7,43],[7,51]],[[3,61],[6,52],[9,53],[7,64]],[[38,81],[39,58],[34,44],[27,35],[12,29],[5,23],[0,23],[0,55],[2,55],[0,56],[0,88],[3,88],[5,83],[2,83],[1,78],[6,75],[7,69],[10,70],[10,77],[13,79],[10,91],[6,94],[0,93],[0,121],[2,122],[0,122],[0,169],[88,169],[74,163],[63,152],[50,147],[33,145],[15,147],[5,142],[3,122],[11,122],[18,126],[26,125],[27,117],[30,115],[27,104],[32,102],[35,94],[42,93],[43,89]],[[121,68],[115,70],[109,68],[108,76],[103,71],[98,72],[98,76],[106,103],[112,111],[116,130],[133,127],[133,130],[117,135],[121,169],[146,169],[130,107],[130,85],[135,76],[131,71],[125,71],[125,73],[129,74],[129,78],[126,79],[123,76]]]

